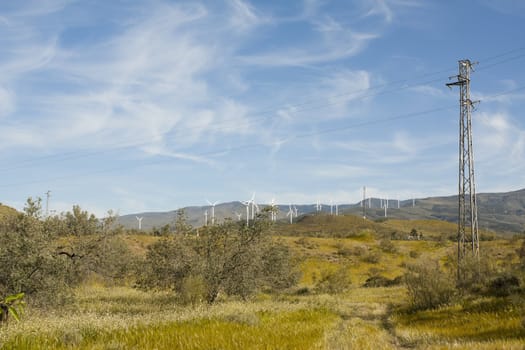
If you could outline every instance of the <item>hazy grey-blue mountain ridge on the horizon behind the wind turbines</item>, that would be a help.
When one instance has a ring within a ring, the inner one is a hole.
[[[525,189],[506,193],[478,194],[477,201],[480,228],[502,233],[521,233],[525,231]],[[370,201],[367,200],[366,202],[366,216],[368,219],[378,220],[384,218],[385,210],[381,208],[381,200],[379,198],[371,198]],[[371,207],[368,207],[369,203]],[[266,206],[265,204],[259,204],[261,209]],[[278,220],[286,222],[288,220],[286,214],[289,211],[289,205],[279,204],[278,207]],[[400,201],[399,208],[397,200],[389,200],[387,217],[389,219],[403,220],[439,219],[456,223],[458,217],[457,207],[457,196],[420,198],[415,200],[414,206],[412,200]],[[299,217],[304,214],[316,213],[315,204],[296,205],[296,208]],[[195,227],[204,225],[205,211],[208,211],[208,222],[211,222],[210,206],[193,206],[183,209],[187,215],[188,222]],[[323,213],[329,214],[330,209],[335,214],[335,206],[330,208],[329,205],[322,205]],[[361,203],[339,205],[338,211],[340,215],[363,215]],[[222,222],[226,218],[238,220],[237,214],[241,215],[241,220],[246,220],[246,206],[241,202],[221,203],[215,206],[216,222]],[[176,220],[177,210],[124,215],[119,218],[119,222],[126,228],[137,228],[137,216],[143,217],[142,229],[150,230],[153,227],[173,224]]]

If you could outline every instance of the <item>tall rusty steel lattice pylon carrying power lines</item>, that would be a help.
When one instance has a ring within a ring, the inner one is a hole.
[[[447,86],[459,86],[459,188],[458,188],[458,281],[464,279],[462,268],[467,252],[479,263],[478,209],[474,182],[474,154],[472,151],[473,102],[470,99],[470,60],[459,61],[457,81]],[[451,77],[452,78],[452,77]],[[468,227],[467,230],[467,225]],[[469,232],[470,231],[470,232]]]

